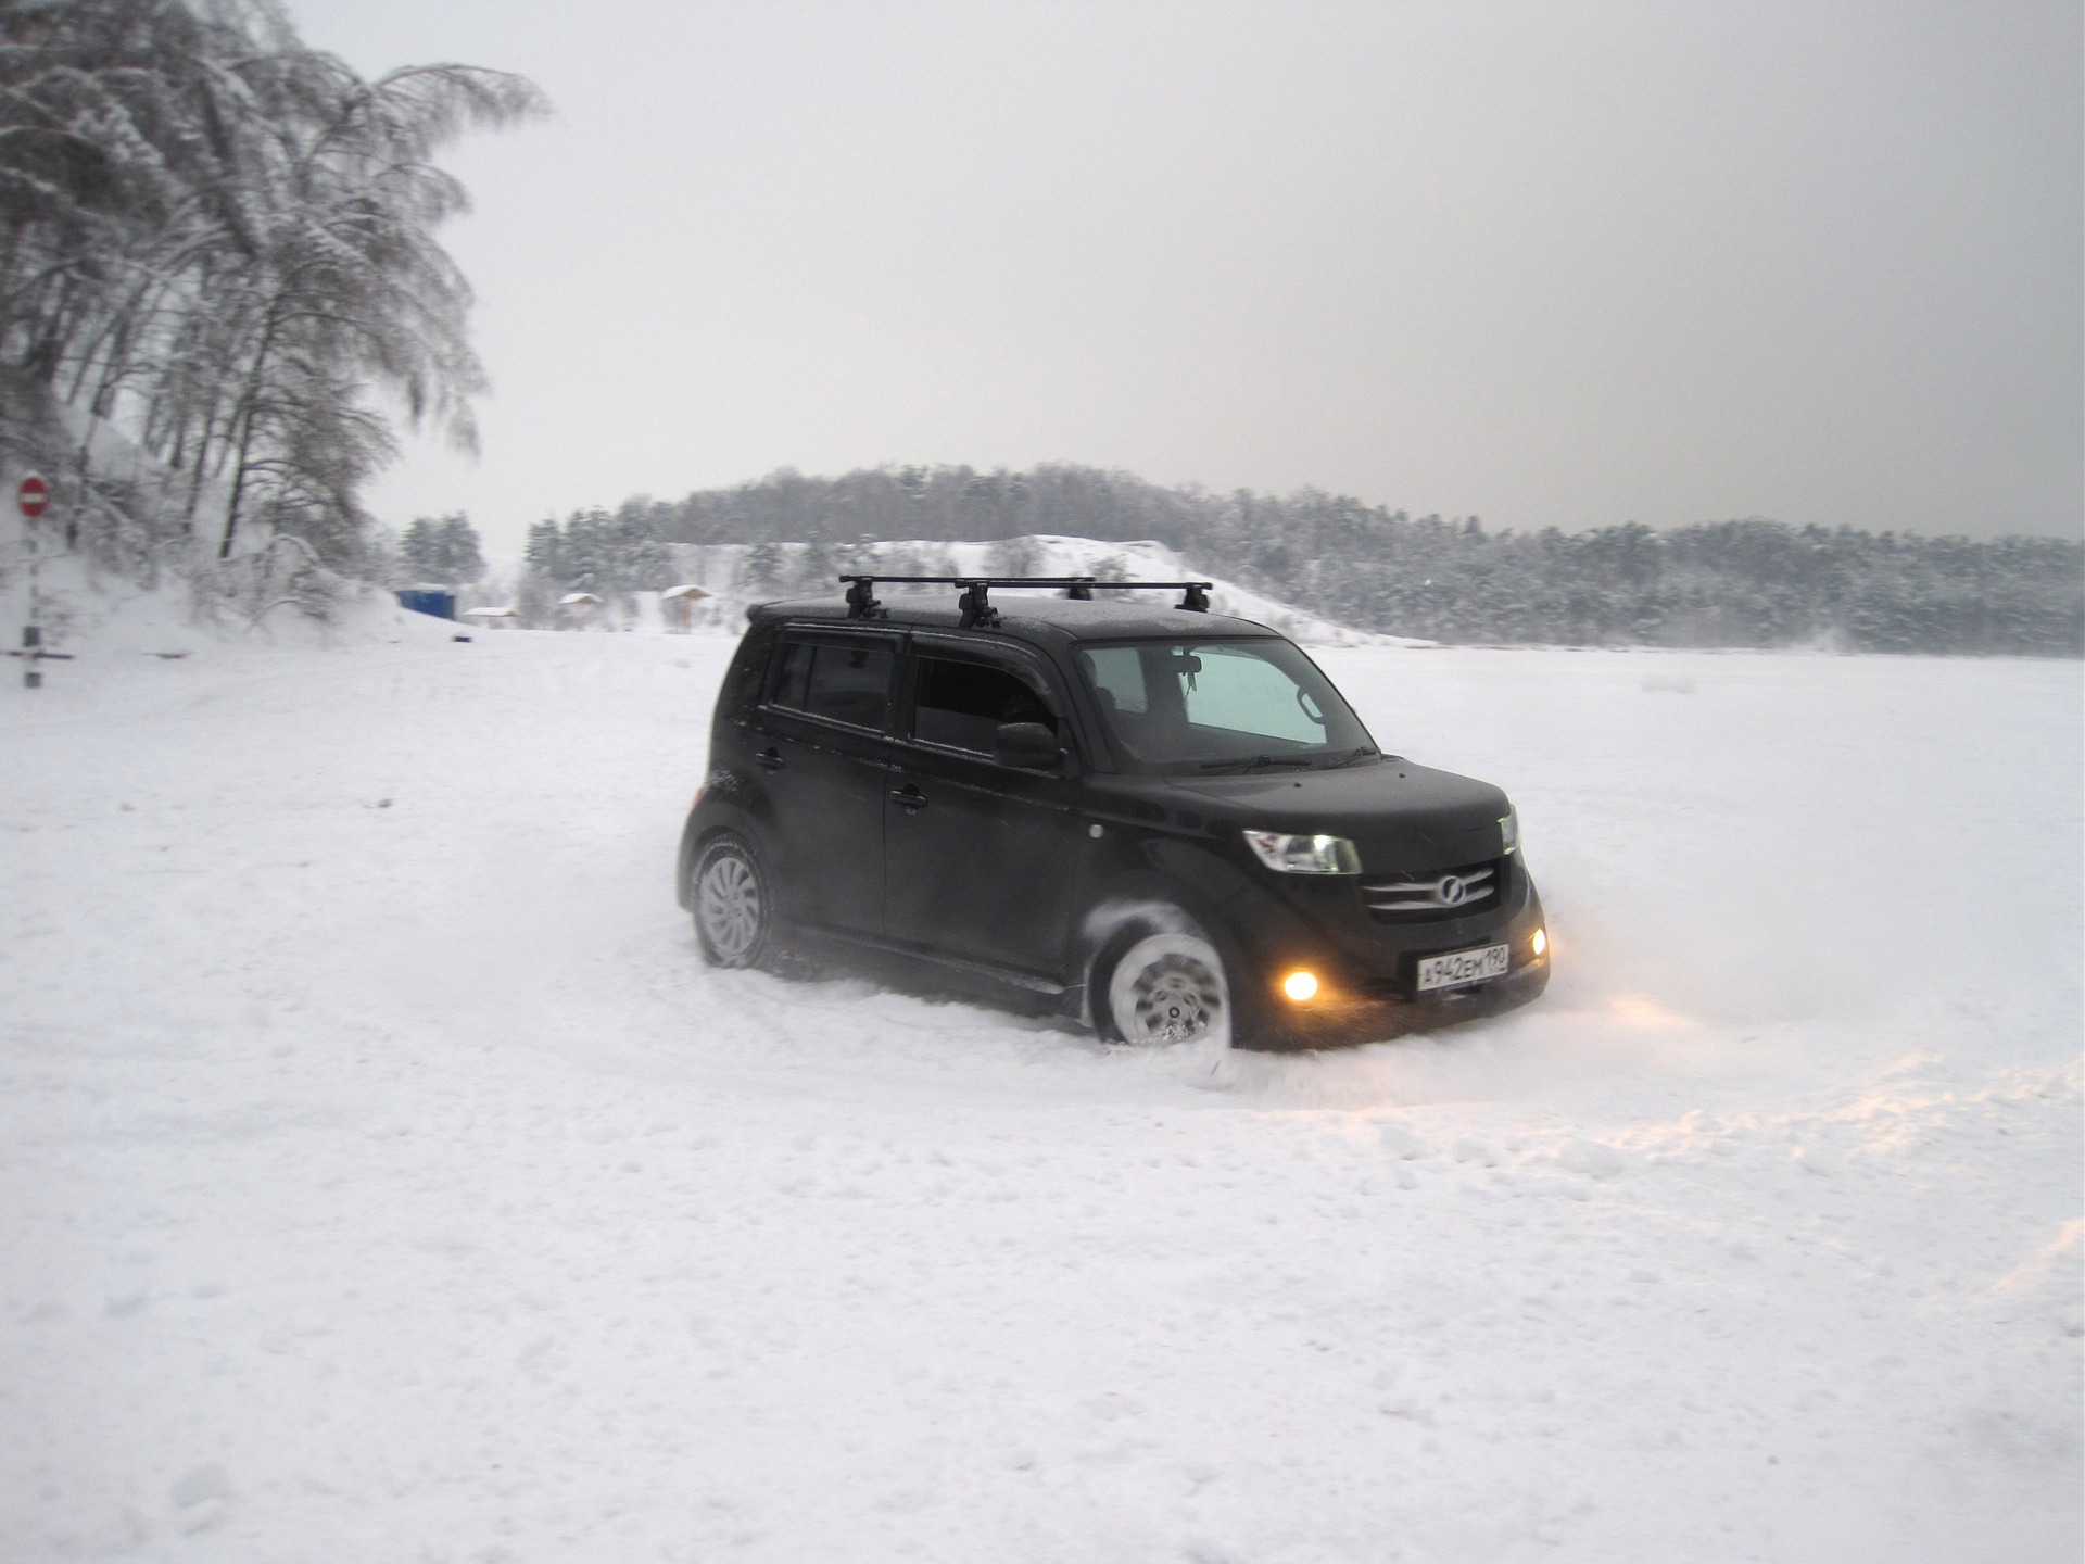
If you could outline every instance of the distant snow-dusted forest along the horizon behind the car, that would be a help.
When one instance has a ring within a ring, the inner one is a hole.
[[[1791,528],[1491,532],[1299,490],[1161,488],[1095,467],[780,471],[682,500],[632,498],[530,530],[536,590],[667,584],[673,544],[809,542],[778,590],[832,590],[859,542],[1155,538],[1197,569],[1330,619],[1451,642],[2085,653],[2085,544]]]

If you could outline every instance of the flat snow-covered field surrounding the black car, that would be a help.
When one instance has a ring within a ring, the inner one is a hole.
[[[1532,1009],[1132,1055],[713,974],[730,642],[0,692],[0,1558],[2081,1547],[2081,669],[1322,653]]]

